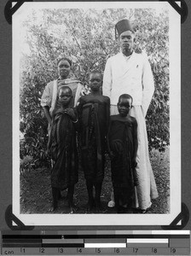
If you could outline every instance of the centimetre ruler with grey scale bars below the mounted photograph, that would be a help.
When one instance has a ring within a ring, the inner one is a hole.
[[[1,232],[2,255],[190,255],[189,230]]]

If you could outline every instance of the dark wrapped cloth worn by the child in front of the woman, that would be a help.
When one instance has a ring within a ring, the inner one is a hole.
[[[55,111],[53,117],[50,142],[54,160],[51,186],[67,189],[78,182],[78,151],[75,125],[61,108]]]

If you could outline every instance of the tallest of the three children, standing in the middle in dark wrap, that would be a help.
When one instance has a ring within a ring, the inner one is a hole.
[[[96,203],[96,211],[101,210],[101,185],[104,177],[106,135],[109,124],[110,99],[101,95],[102,76],[90,73],[90,94],[81,96],[78,104],[80,121],[80,148],[82,167],[89,195],[88,211]],[[93,197],[96,189],[96,200]]]

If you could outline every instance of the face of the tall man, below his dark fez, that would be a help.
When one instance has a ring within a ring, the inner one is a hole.
[[[134,38],[135,38],[134,33],[129,30],[120,34],[119,45],[124,54],[132,52]]]

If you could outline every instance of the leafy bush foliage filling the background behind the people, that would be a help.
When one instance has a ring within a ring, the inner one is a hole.
[[[72,76],[87,86],[88,73],[103,73],[107,58],[119,52],[114,25],[123,18],[136,30],[135,50],[148,55],[155,82],[148,109],[149,148],[165,150],[169,144],[169,20],[167,11],[153,9],[42,9],[32,12],[23,26],[30,54],[21,58],[20,158],[32,155],[36,166],[47,164],[47,121],[40,107],[43,89],[57,78],[56,61],[72,59]]]

